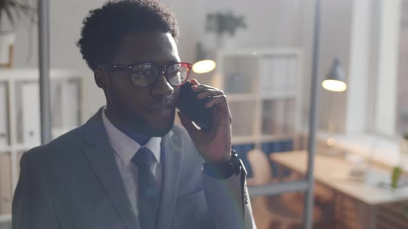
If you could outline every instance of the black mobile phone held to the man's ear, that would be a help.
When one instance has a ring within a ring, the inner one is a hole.
[[[205,132],[210,131],[214,115],[214,107],[206,108],[205,103],[210,97],[197,99],[198,92],[192,90],[193,84],[188,82],[180,87],[177,108],[185,113],[189,119],[192,119]]]

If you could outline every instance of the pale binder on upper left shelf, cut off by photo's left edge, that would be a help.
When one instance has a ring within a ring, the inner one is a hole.
[[[0,83],[0,148],[8,146],[8,104],[6,84]]]

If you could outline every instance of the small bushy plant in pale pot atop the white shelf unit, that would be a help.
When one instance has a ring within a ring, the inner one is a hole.
[[[247,28],[243,16],[236,16],[233,12],[207,14],[205,30],[216,34],[217,48],[232,48],[232,37],[239,28]]]

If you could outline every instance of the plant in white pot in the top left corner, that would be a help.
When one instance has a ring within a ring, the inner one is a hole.
[[[0,0],[0,66],[12,66],[15,46],[13,30],[17,21],[26,17],[31,23],[34,23],[35,15],[36,10],[30,5],[30,0]],[[6,19],[8,24],[2,19]]]

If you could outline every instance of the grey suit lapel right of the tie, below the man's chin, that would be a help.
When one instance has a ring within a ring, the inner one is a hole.
[[[163,175],[160,193],[160,208],[156,228],[165,229],[170,227],[176,208],[176,195],[178,190],[178,177],[180,172],[180,160],[183,154],[183,142],[180,135],[173,130],[162,141]],[[164,150],[164,151],[163,151]]]

